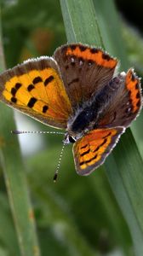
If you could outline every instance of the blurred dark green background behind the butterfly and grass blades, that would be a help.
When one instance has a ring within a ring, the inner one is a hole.
[[[116,2],[130,66],[141,76],[142,23],[135,18],[129,1],[128,12],[123,1]],[[143,2],[134,4],[140,17]],[[58,0],[3,0],[1,6],[6,67],[34,56],[53,55],[56,47],[66,43]],[[20,113],[15,113],[15,117],[19,130],[52,131]],[[89,177],[77,176],[72,146],[67,146],[59,178],[53,183],[62,136],[20,135],[19,139],[42,255],[134,255],[128,226],[104,168]],[[2,170],[0,176],[0,256],[19,256]]]

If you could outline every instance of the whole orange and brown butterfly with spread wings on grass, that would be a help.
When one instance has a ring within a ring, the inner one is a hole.
[[[53,57],[24,61],[0,74],[0,100],[45,125],[66,129],[76,171],[103,164],[141,109],[140,79],[102,49],[66,44]]]

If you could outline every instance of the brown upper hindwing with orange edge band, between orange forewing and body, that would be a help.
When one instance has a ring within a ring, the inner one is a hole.
[[[73,108],[102,90],[117,67],[117,59],[102,49],[83,44],[63,45],[55,50],[54,58]]]

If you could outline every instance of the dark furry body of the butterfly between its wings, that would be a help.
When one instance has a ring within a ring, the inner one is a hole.
[[[100,125],[100,120],[104,119],[106,109],[109,109],[112,105],[114,97],[124,80],[125,73],[119,74],[118,77],[106,84],[102,90],[93,95],[88,102],[83,102],[83,105],[76,109],[76,112],[68,120],[66,128],[74,142],[94,129],[115,127],[115,125],[112,125],[112,121],[116,118],[116,110],[111,123]]]

